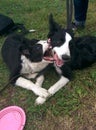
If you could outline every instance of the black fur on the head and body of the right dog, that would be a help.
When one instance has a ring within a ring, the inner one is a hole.
[[[62,60],[64,61],[64,65],[59,67],[63,76],[71,79],[72,70],[83,69],[96,62],[96,37],[74,37],[72,31],[62,28],[54,21],[52,15],[50,15],[49,25],[50,30],[48,38],[50,38],[50,44],[52,45],[53,49],[64,44],[66,41],[66,33],[72,37],[72,39],[69,41],[70,56],[64,57],[65,54],[63,54]],[[66,57],[68,59],[70,58],[70,60],[67,61]]]

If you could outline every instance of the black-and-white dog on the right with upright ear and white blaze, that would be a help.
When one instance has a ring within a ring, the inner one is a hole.
[[[70,81],[73,70],[86,68],[96,62],[96,37],[75,38],[68,30],[61,28],[52,15],[49,25],[48,41],[53,50],[54,67],[60,75],[59,81],[48,89],[51,96]],[[37,104],[43,104],[46,98],[38,97]]]

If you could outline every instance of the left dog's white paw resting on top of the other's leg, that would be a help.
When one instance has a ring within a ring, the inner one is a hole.
[[[41,87],[36,87],[34,93],[42,98],[46,98],[49,95],[48,91]]]

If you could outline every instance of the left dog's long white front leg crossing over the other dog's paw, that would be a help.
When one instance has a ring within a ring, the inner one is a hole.
[[[32,90],[36,95],[43,97],[43,98],[46,98],[48,96],[48,91],[46,89],[38,87],[30,80],[25,79],[23,77],[19,77],[16,80],[15,85],[28,89],[28,90]]]

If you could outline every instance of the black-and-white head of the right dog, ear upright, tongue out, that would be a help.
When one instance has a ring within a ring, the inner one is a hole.
[[[71,31],[63,29],[57,24],[53,16],[49,16],[48,42],[52,46],[53,58],[57,66],[62,66],[64,62],[70,60],[69,42],[72,39]]]

